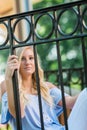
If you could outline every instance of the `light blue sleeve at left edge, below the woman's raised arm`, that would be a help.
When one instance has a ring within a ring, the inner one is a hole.
[[[8,110],[7,93],[2,96],[2,108],[1,108],[1,124],[6,124],[10,120],[10,113]]]

